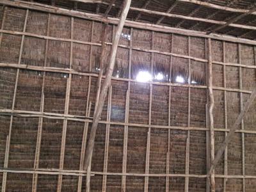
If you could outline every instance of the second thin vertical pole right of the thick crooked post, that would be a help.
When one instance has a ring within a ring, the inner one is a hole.
[[[241,44],[238,44],[238,63],[241,64]],[[242,68],[239,67],[239,90],[243,89],[243,82],[242,82]],[[243,111],[243,93],[239,93],[240,97],[240,113]],[[241,121],[241,129],[244,130],[244,120]],[[242,136],[242,173],[244,176],[244,132],[241,132]],[[243,178],[243,192],[245,192],[245,180]]]

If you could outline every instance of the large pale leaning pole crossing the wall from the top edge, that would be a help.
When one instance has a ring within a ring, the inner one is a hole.
[[[100,93],[99,104],[97,106],[97,109],[95,109],[96,113],[93,116],[93,125],[92,125],[92,130],[90,133],[90,139],[88,141],[88,147],[86,150],[86,156],[85,156],[85,162],[84,162],[85,169],[88,168],[90,159],[92,157],[95,134],[97,131],[97,126],[99,124],[100,115],[102,113],[104,100],[106,99],[106,95],[108,93],[108,88],[109,88],[109,85],[111,84],[111,77],[113,74],[113,68],[115,67],[115,57],[116,57],[118,42],[120,39],[120,35],[122,33],[122,29],[124,27],[124,22],[127,17],[127,13],[129,11],[130,5],[131,5],[131,0],[125,0],[124,10],[122,11],[122,16],[121,16],[120,22],[119,22],[117,30],[116,30],[115,39],[113,40],[113,45],[112,45],[111,54],[110,54],[109,67],[108,67],[108,71],[106,72],[106,79],[104,80],[104,83],[102,85],[102,92]]]

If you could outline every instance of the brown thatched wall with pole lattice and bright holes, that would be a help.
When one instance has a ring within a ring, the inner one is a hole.
[[[95,109],[102,24],[11,7],[0,7],[0,21],[0,187],[56,191],[62,174],[61,191],[85,191],[81,148]],[[205,42],[124,28],[95,138],[91,191],[207,191]],[[212,40],[212,57],[217,150],[256,85],[255,47]],[[136,81],[141,71],[150,83]],[[256,101],[216,169],[218,189],[255,190],[255,124]]]

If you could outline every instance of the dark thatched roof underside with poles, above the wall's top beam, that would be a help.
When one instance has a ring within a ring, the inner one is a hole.
[[[86,1],[89,3],[84,3]],[[34,0],[81,12],[120,17],[124,0]],[[255,0],[132,0],[128,20],[256,39]]]

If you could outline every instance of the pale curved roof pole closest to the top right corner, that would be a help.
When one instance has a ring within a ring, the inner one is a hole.
[[[244,10],[244,9],[239,9],[239,8],[231,8],[231,7],[228,7],[228,6],[220,6],[218,4],[207,3],[207,2],[204,2],[204,1],[198,1],[198,0],[177,0],[177,1],[182,2],[182,3],[199,4],[201,6],[206,6],[206,7],[209,7],[209,8],[214,8],[216,10],[223,10],[223,11],[234,12],[234,13],[247,13],[247,12],[250,11],[250,10]],[[256,12],[252,12],[250,14],[256,15]]]

